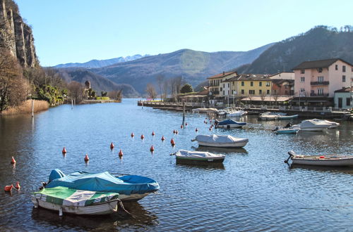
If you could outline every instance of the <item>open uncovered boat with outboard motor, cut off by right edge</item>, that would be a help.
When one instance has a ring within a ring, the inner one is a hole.
[[[353,166],[353,155],[297,155],[294,151],[288,152],[289,159],[294,165],[317,165],[317,166]]]

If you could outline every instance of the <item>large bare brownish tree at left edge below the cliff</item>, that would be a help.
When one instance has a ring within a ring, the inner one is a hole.
[[[8,49],[0,49],[0,112],[26,100],[29,84],[22,68]]]

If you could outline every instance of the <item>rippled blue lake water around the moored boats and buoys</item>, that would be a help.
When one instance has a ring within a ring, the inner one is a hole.
[[[1,188],[16,181],[21,185],[19,193],[0,191],[0,231],[352,231],[353,169],[290,168],[283,162],[288,150],[352,155],[352,122],[325,132],[275,135],[270,129],[286,122],[246,116],[241,119],[248,122],[244,129],[209,131],[205,116],[186,114],[189,125],[180,129],[182,112],[141,108],[136,99],[124,99],[73,110],[61,105],[34,119],[0,117]],[[213,133],[249,138],[249,143],[244,149],[217,150],[191,142],[196,134]],[[177,143],[174,148],[171,138]],[[209,150],[226,158],[221,166],[176,165],[169,154],[178,149]],[[88,164],[83,161],[86,153]],[[10,164],[11,156],[16,166]],[[160,191],[125,205],[136,218],[59,218],[56,212],[34,209],[30,201],[30,193],[55,168],[65,174],[82,170],[148,176],[160,183]]]

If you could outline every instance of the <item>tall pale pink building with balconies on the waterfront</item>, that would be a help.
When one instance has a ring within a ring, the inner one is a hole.
[[[351,85],[353,65],[340,58],[305,61],[294,70],[294,95],[333,98],[337,89]]]

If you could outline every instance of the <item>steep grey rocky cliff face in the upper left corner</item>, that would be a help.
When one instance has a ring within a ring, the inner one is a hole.
[[[0,0],[0,47],[9,49],[23,67],[39,65],[32,29],[23,22],[12,0]]]

